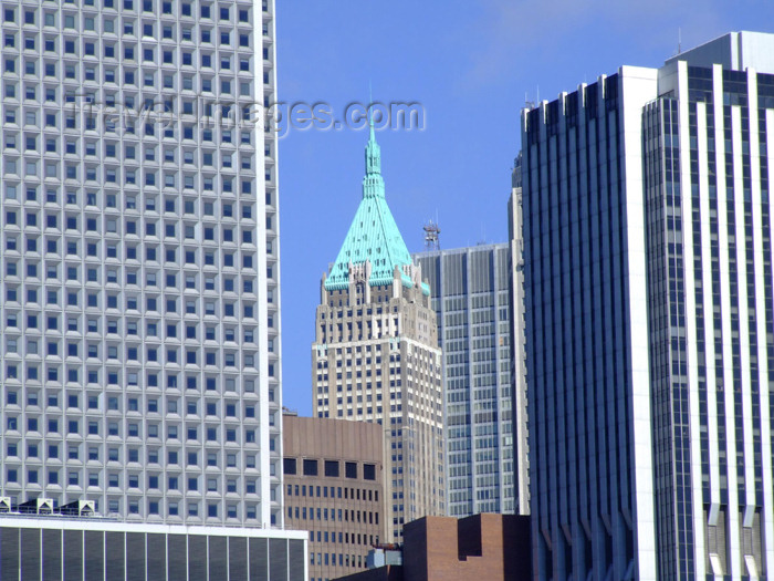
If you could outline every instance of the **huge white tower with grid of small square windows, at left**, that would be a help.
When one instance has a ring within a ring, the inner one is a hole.
[[[0,10],[0,496],[281,526],[273,0]]]

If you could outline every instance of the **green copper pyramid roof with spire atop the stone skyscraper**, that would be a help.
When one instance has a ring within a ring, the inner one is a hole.
[[[405,286],[411,287],[402,267],[411,264],[411,255],[406,248],[400,230],[395,224],[385,199],[385,181],[381,179],[381,152],[376,143],[374,124],[366,145],[366,176],[363,178],[363,199],[349,226],[336,262],[325,280],[325,289],[341,290],[349,286],[349,263],[363,264],[370,260],[372,287],[391,284],[395,267],[401,270]]]

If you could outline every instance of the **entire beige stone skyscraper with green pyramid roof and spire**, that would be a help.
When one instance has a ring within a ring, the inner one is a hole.
[[[388,535],[444,513],[441,350],[421,269],[385,199],[374,128],[363,199],[321,283],[312,345],[318,417],[377,422],[389,449]]]

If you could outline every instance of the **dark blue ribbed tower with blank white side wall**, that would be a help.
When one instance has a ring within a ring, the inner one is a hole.
[[[535,579],[655,574],[639,186],[655,96],[656,72],[626,68],[523,116]]]

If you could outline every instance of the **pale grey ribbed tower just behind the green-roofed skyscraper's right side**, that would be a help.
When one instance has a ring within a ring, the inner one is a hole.
[[[430,287],[444,359],[447,513],[513,513],[509,246],[432,250],[414,258]]]

